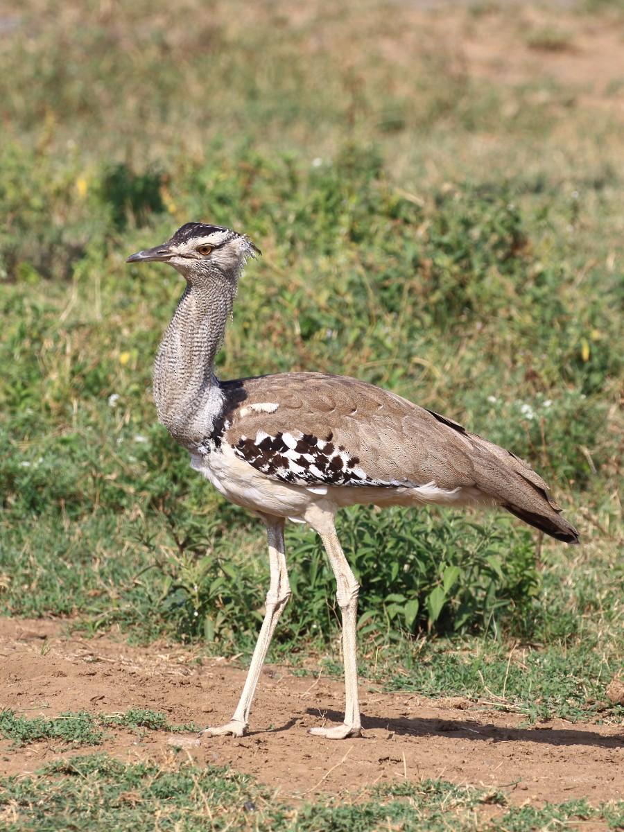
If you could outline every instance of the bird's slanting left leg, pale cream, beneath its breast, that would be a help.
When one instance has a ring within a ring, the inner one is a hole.
[[[265,620],[260,628],[258,641],[255,643],[254,655],[247,672],[245,687],[240,695],[240,701],[234,716],[225,726],[205,728],[201,734],[231,734],[243,736],[247,731],[251,701],[254,698],[255,687],[260,678],[262,663],[265,661],[266,651],[269,649],[275,625],[290,598],[290,583],[284,553],[284,518],[260,515],[266,525],[266,535],[269,538],[269,566],[270,587],[266,595]]]

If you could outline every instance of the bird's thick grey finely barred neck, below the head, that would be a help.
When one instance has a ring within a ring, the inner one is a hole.
[[[191,451],[212,433],[224,407],[214,364],[233,296],[225,285],[210,290],[187,285],[154,365],[158,418]]]

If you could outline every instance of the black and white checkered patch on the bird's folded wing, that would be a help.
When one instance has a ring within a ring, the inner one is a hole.
[[[333,433],[321,439],[311,433],[258,431],[255,438],[241,436],[234,453],[272,479],[303,486],[377,486],[397,488],[409,483],[379,482],[359,465],[359,458],[336,445]]]

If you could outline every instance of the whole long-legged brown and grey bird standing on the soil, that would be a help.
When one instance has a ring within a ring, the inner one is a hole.
[[[348,376],[291,372],[221,380],[215,357],[238,282],[260,250],[221,225],[188,222],[127,263],[168,263],[186,281],[156,355],[158,418],[191,468],[264,522],[270,587],[245,686],[231,720],[201,734],[248,733],[251,703],[278,619],[290,599],[285,520],[324,544],[342,618],[344,721],[314,726],[329,740],[361,735],[356,627],[359,584],[334,518],[356,503],[501,507],[555,539],[579,542],[546,483],[508,450],[408,399]]]

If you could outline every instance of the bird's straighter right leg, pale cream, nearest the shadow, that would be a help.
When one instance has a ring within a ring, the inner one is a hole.
[[[305,518],[323,541],[336,578],[336,600],[342,612],[342,652],[344,660],[344,686],[346,702],[344,723],[333,728],[310,728],[309,733],[329,740],[344,740],[347,736],[359,736],[358,660],[356,651],[356,624],[358,617],[359,583],[349,567],[334,527],[334,514],[322,512],[318,507],[306,513]]]

